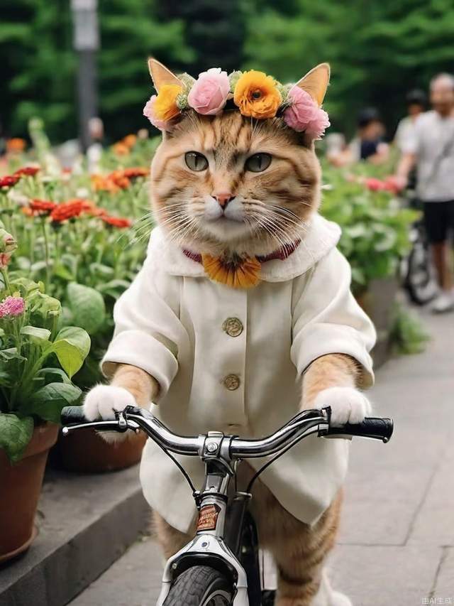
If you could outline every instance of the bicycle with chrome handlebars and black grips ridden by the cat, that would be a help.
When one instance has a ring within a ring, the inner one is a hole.
[[[199,519],[196,535],[165,565],[162,589],[156,606],[272,606],[274,593],[262,593],[258,562],[258,535],[248,503],[255,480],[299,440],[316,433],[325,438],[359,435],[386,443],[392,436],[389,418],[365,418],[362,423],[330,426],[331,408],[302,411],[272,435],[243,439],[210,431],[204,435],[175,435],[143,408],[127,406],[111,421],[87,421],[82,407],[62,410],[63,434],[82,428],[101,431],[142,429],[172,458],[192,488]],[[203,488],[192,480],[173,454],[198,456],[205,463]],[[275,456],[272,456],[275,455]],[[255,472],[244,492],[235,490],[228,499],[228,486],[241,460],[272,456]]]

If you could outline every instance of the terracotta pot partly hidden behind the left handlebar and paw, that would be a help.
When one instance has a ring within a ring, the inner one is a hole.
[[[131,467],[140,461],[146,442],[143,432],[108,443],[93,429],[60,436],[52,452],[52,464],[68,471],[99,473]]]

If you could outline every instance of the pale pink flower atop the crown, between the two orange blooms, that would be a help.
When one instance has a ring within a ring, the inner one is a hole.
[[[197,113],[215,116],[222,111],[229,92],[227,72],[221,72],[221,67],[211,67],[211,70],[199,74],[187,102]]]

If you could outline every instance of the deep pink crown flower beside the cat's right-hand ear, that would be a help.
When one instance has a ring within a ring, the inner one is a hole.
[[[287,99],[292,104],[284,111],[284,121],[295,131],[305,131],[314,139],[320,139],[329,126],[328,114],[321,109],[309,92],[294,85]]]

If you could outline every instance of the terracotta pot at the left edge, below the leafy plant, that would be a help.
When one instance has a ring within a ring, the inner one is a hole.
[[[55,423],[35,427],[23,458],[14,465],[0,448],[0,562],[26,551],[35,539],[35,512],[45,462],[57,435]]]

